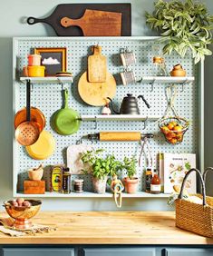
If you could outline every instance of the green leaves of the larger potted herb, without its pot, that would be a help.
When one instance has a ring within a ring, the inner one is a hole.
[[[105,158],[100,157],[100,153],[104,150],[93,150],[82,153],[82,162],[89,163],[91,166],[92,176],[98,180],[104,179],[106,176],[113,176],[121,170],[121,162],[116,160],[114,155],[107,155]],[[82,170],[88,173],[87,170]]]

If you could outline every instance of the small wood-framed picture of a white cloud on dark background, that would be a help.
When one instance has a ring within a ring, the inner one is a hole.
[[[66,48],[35,48],[34,54],[42,56],[45,76],[55,76],[58,72],[66,72]]]

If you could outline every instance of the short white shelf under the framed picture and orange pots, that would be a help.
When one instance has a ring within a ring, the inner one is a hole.
[[[21,82],[26,82],[30,80],[31,84],[72,84],[73,77],[20,77]]]

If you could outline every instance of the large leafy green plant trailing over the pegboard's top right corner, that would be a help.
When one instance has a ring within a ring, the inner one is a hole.
[[[208,44],[212,43],[213,15],[206,5],[193,0],[158,0],[153,14],[146,12],[147,23],[164,37],[164,54],[176,51],[181,57],[191,50],[195,64],[211,55]]]

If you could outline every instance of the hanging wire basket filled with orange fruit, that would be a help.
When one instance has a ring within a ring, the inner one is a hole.
[[[182,117],[167,117],[160,119],[159,128],[168,143],[179,144],[189,129],[189,121]]]

